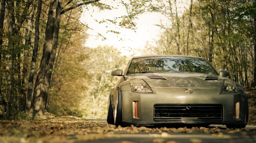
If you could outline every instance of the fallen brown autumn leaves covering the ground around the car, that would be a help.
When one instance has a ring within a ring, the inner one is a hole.
[[[121,134],[149,133],[153,142],[165,142],[165,138],[172,138],[171,133],[204,133],[211,134],[216,138],[229,138],[227,134],[244,134],[250,131],[255,134],[256,129],[228,129],[206,127],[179,127],[179,128],[148,128],[116,127],[107,123],[89,121],[73,116],[52,117],[35,120],[0,120],[1,143],[74,143],[78,141],[97,140],[113,137],[121,138]],[[191,139],[192,143],[200,143],[199,139]],[[167,141],[166,141],[167,142]],[[165,143],[166,143],[165,142]],[[168,141],[171,142],[171,141]],[[175,141],[173,141],[175,142]]]

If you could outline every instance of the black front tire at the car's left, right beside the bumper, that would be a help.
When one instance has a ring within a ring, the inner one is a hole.
[[[122,113],[122,98],[121,98],[121,91],[118,88],[117,89],[117,106],[116,106],[116,118],[114,120],[114,124],[116,125],[116,127],[118,127],[119,125],[121,125],[121,127],[124,127],[123,124],[123,113]]]

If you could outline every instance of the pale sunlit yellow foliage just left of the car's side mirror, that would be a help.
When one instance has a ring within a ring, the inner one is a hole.
[[[121,68],[127,60],[116,48],[108,46],[91,49],[90,57],[85,65],[91,80],[90,84],[87,84],[88,89],[83,92],[83,117],[106,119],[109,93],[117,81],[111,72]]]

